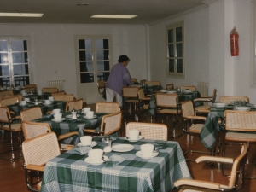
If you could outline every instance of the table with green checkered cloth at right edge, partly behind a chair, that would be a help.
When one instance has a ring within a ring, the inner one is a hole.
[[[252,107],[252,111],[256,111],[256,108],[247,103],[247,106]],[[225,107],[217,107],[212,104],[210,112],[207,114],[207,119],[202,127],[201,133],[199,135],[201,143],[208,149],[212,150],[217,141],[217,135],[219,131],[224,131],[224,111],[225,110],[234,110],[234,105],[226,105]],[[219,119],[221,119],[222,124],[219,124]]]

